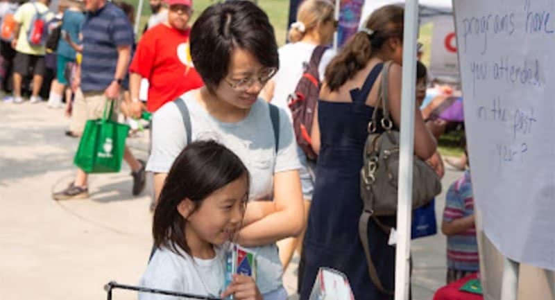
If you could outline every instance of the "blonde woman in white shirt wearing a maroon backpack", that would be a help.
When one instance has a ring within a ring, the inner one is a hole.
[[[289,95],[295,92],[297,84],[309,64],[315,51],[324,51],[318,63],[318,75],[323,80],[327,64],[332,60],[335,51],[332,49],[318,49],[316,46],[328,46],[332,43],[337,21],[334,17],[334,5],[329,0],[307,0],[298,8],[297,21],[289,29],[289,44],[279,49],[280,71],[268,84],[265,98],[271,103],[282,107],[291,119],[291,110],[288,107]],[[298,148],[299,159],[302,164],[300,181],[302,197],[305,200],[305,220],[308,218],[310,200],[314,190],[314,172],[316,161],[308,160],[305,153]],[[287,268],[295,249],[300,253],[302,249],[302,235],[298,238],[288,238],[278,242],[280,259]]]

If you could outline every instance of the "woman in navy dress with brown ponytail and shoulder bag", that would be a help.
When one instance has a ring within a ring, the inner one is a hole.
[[[380,292],[368,274],[359,238],[359,172],[366,128],[377,103],[383,63],[393,60],[388,76],[393,123],[400,123],[403,10],[384,6],[375,10],[362,28],[330,62],[318,101],[313,143],[319,150],[314,197],[304,241],[305,273],[300,289],[307,300],[319,267],[343,272],[356,300],[393,299]],[[416,59],[416,58],[415,58]],[[415,154],[432,156],[436,141],[415,109]],[[395,217],[380,221],[395,227]],[[395,247],[375,222],[368,222],[368,240],[373,263],[384,288],[393,290]]]

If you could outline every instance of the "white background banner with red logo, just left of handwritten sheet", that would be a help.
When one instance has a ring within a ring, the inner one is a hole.
[[[456,54],[456,36],[453,16],[442,15],[432,19],[432,52],[429,71],[434,78],[459,81],[459,58]]]

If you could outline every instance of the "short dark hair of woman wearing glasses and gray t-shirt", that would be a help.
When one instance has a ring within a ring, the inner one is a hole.
[[[280,65],[273,27],[251,1],[209,6],[193,24],[190,43],[195,69],[210,91],[227,76],[234,48],[248,51],[264,67]]]

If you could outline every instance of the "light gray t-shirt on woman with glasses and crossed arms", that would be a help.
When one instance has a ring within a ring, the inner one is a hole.
[[[189,109],[191,141],[214,139],[230,148],[250,172],[250,201],[271,200],[273,175],[298,170],[300,162],[293,127],[280,109],[279,149],[275,153],[275,137],[268,103],[262,99],[250,108],[248,116],[237,123],[223,123],[212,117],[188,91],[180,97]],[[173,161],[187,145],[185,125],[175,103],[167,103],[153,116],[151,156],[146,170],[168,173]],[[282,286],[282,265],[275,243],[253,249],[257,252],[257,286],[267,293]]]

